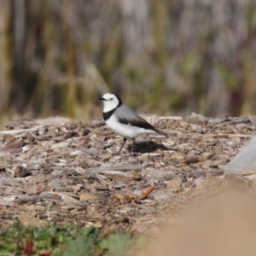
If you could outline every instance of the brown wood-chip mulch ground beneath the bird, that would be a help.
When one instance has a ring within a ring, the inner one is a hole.
[[[20,119],[0,132],[0,227],[95,225],[157,232],[224,184],[224,166],[254,136],[256,117],[143,116],[168,138],[122,138],[102,120]]]

